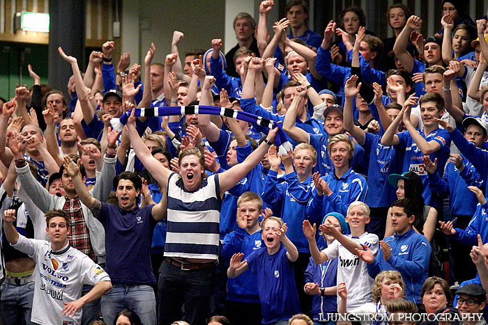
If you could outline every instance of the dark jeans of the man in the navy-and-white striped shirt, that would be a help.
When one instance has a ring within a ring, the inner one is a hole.
[[[183,319],[192,325],[206,325],[215,285],[215,267],[185,271],[165,260],[159,272],[158,324],[169,325]],[[183,303],[185,315],[182,317]]]

